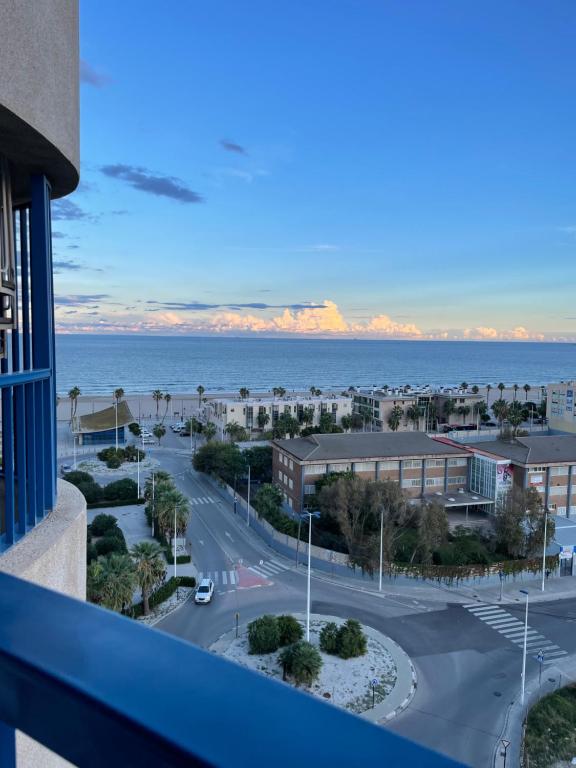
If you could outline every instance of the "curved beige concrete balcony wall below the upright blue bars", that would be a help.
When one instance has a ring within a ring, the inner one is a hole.
[[[56,508],[0,556],[0,571],[79,600],[86,599],[86,501],[58,481]],[[42,632],[42,627],[38,627]],[[18,732],[18,768],[63,768],[66,760]]]

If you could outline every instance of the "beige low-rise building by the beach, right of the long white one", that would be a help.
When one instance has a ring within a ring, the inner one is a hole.
[[[477,425],[476,406],[483,400],[481,394],[462,389],[362,389],[354,393],[353,410],[362,418],[365,429],[391,432],[391,416],[401,411],[395,431],[431,432],[443,424]]]

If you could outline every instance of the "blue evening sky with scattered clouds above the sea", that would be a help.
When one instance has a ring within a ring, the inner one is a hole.
[[[81,3],[61,333],[576,340],[573,0]]]

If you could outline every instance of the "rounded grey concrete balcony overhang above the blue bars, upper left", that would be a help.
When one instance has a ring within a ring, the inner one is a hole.
[[[54,197],[78,183],[78,2],[0,3],[0,151],[45,173]],[[14,196],[27,198],[16,169]]]

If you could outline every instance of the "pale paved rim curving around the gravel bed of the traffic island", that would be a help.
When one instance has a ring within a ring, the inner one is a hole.
[[[299,621],[306,621],[306,615],[303,613],[293,613],[292,615]],[[319,613],[311,614],[310,618],[320,621],[334,621],[338,624],[345,621],[342,616],[327,616]],[[384,635],[382,632],[379,632],[366,624],[362,624],[362,627],[369,637],[379,642],[390,653],[396,667],[396,682],[384,701],[377,704],[374,708],[358,713],[356,716],[362,717],[375,724],[385,724],[405,710],[414,698],[418,686],[416,669],[412,663],[412,659],[395,640],[392,640],[388,635]],[[246,634],[247,631],[248,623],[240,624],[238,626],[238,637]],[[222,655],[228,650],[232,641],[235,639],[236,629],[224,632],[224,634],[220,635],[220,637],[209,646],[208,650],[212,653]],[[350,714],[356,713],[350,712]]]

